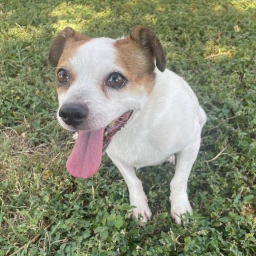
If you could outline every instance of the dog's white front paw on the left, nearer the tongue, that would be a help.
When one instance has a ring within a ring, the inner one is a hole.
[[[130,205],[135,206],[129,214],[129,218],[137,219],[146,223],[151,218],[151,211],[148,207],[147,196],[130,196]]]

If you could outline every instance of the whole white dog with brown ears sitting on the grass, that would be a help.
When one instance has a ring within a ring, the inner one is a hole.
[[[97,172],[104,151],[129,189],[132,217],[151,211],[135,169],[174,162],[171,216],[192,213],[187,182],[201,143],[206,114],[191,87],[166,68],[154,32],[134,27],[126,37],[90,38],[67,27],[54,39],[49,63],[56,69],[58,121],[77,132],[67,160],[74,177]]]

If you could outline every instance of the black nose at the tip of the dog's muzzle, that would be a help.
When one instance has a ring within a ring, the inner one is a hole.
[[[59,110],[59,116],[68,125],[76,127],[87,118],[89,108],[82,104],[63,105]]]

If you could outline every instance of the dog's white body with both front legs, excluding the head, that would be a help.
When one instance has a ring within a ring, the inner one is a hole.
[[[132,205],[138,207],[133,210],[133,215],[137,217],[139,211],[143,221],[147,221],[151,214],[146,214],[149,208],[145,193],[141,183],[135,179],[133,167],[173,162],[173,154],[177,153],[175,175],[170,184],[170,202],[172,217],[181,223],[182,214],[192,213],[186,191],[187,181],[199,150],[206,115],[182,78],[170,70],[164,73],[155,71],[157,80],[146,105],[132,116],[125,129],[115,135],[107,154],[121,171],[130,195],[133,195]],[[136,201],[134,195],[137,195]]]

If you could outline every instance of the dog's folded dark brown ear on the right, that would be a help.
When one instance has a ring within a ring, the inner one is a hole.
[[[156,67],[160,71],[164,71],[166,68],[166,59],[163,51],[163,47],[155,35],[155,33],[142,26],[136,26],[130,33],[130,38],[139,43],[143,50],[147,51],[156,59]]]

